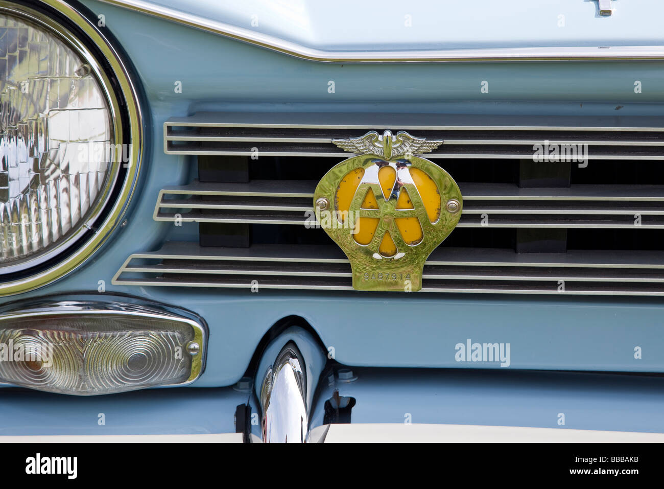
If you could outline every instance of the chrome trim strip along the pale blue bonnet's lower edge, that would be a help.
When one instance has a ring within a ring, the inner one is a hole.
[[[171,9],[163,5],[155,5],[144,0],[100,1],[295,56],[296,58],[322,62],[515,62],[664,59],[664,46],[512,47],[376,51],[321,50],[250,29],[206,19],[199,15]]]

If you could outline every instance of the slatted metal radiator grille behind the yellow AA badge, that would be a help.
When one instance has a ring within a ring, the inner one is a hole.
[[[348,119],[353,124],[337,124]],[[300,237],[320,231],[304,231],[317,179],[351,155],[331,139],[389,128],[445,140],[427,157],[445,167],[463,193],[459,229],[428,259],[423,291],[664,295],[664,231],[657,234],[664,229],[664,171],[657,161],[664,159],[663,123],[363,114],[171,118],[164,126],[165,153],[205,155],[220,166],[224,157],[257,155],[256,171],[245,183],[165,187],[154,219],[258,226],[262,235],[282,238],[248,248],[167,242],[129,256],[114,283],[248,288],[257,280],[262,288],[352,290],[343,252],[327,236],[308,244]],[[520,160],[532,161],[537,144],[587,144],[590,169],[571,163],[568,187],[520,187],[509,173]],[[266,160],[277,162],[273,175],[264,171]],[[546,229],[568,230],[564,252],[519,253],[509,245],[519,230]]]

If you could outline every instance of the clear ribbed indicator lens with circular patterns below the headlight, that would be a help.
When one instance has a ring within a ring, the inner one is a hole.
[[[10,322],[0,322],[0,381],[42,391],[94,395],[185,383],[202,354],[187,351],[196,332],[177,320],[91,314]]]

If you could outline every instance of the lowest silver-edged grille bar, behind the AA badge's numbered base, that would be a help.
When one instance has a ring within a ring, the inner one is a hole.
[[[429,292],[664,295],[664,260],[654,252],[517,254],[511,250],[438,248],[424,266]],[[263,245],[208,248],[167,243],[133,254],[115,284],[350,290],[350,264],[331,246]],[[629,284],[626,287],[624,284]]]

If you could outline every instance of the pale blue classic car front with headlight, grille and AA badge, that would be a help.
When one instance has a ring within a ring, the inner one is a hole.
[[[0,440],[664,440],[659,13],[0,0]]]

